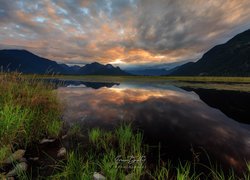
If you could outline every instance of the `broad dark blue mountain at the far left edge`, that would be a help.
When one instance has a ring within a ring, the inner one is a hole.
[[[22,73],[64,73],[64,69],[54,61],[39,57],[26,50],[0,50],[2,71]]]

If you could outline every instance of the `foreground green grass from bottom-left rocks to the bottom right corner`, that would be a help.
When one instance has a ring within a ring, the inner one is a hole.
[[[95,172],[111,180],[126,178],[153,180],[233,180],[243,178],[247,180],[250,177],[250,165],[242,177],[238,177],[234,171],[226,173],[212,164],[210,166],[201,165],[208,171],[204,174],[196,171],[199,164],[189,161],[182,161],[174,165],[171,161],[165,163],[161,160],[158,165],[155,165],[155,168],[148,168],[146,163],[136,161],[140,156],[147,156],[147,151],[143,143],[143,134],[133,131],[131,124],[122,124],[113,131],[99,128],[90,129],[88,137],[90,145],[87,149],[78,148],[69,153],[67,162],[61,165],[60,170],[52,176],[53,179],[93,179]],[[98,148],[96,148],[97,145]],[[131,156],[134,157],[130,159]]]

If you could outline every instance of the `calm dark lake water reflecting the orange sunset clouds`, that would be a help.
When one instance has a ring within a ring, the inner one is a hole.
[[[167,84],[96,84],[59,87],[64,120],[85,127],[112,128],[123,121],[144,131],[162,158],[186,158],[206,150],[219,162],[241,168],[250,160],[250,126],[208,106],[192,92]]]

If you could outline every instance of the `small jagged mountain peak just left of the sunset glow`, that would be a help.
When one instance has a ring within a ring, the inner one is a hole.
[[[97,62],[86,64],[79,69],[78,73],[83,75],[129,75],[119,67],[114,67],[111,64],[103,65]]]

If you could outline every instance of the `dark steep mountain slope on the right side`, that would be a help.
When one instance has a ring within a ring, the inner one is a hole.
[[[174,70],[180,76],[250,76],[250,29]]]

